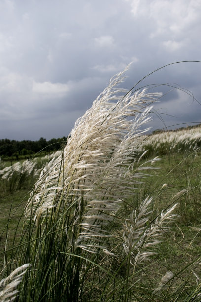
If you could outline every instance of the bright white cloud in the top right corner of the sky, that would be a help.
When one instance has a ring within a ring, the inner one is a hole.
[[[131,12],[139,22],[145,20],[150,38],[185,36],[200,23],[200,0],[130,0]]]

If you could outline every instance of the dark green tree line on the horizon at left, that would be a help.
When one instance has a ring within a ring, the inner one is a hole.
[[[47,141],[41,137],[38,141],[16,141],[9,139],[0,140],[0,157],[2,159],[13,157],[13,159],[19,160],[21,158],[29,158],[38,152],[42,154],[51,153],[57,151],[63,147],[67,142],[67,137],[51,139]]]

